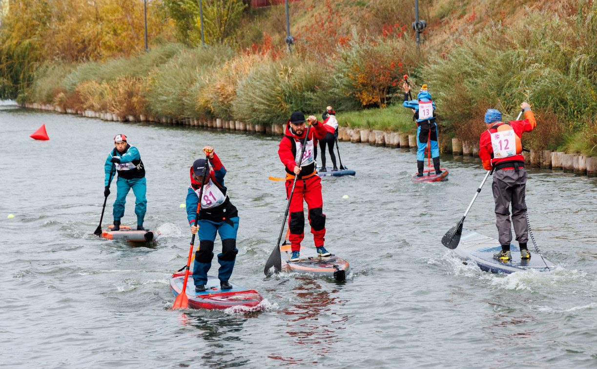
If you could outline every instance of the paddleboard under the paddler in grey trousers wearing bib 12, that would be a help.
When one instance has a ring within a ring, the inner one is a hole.
[[[549,260],[541,259],[541,255],[531,253],[531,259],[522,260],[520,249],[517,246],[510,245],[510,254],[512,260],[507,263],[500,262],[493,258],[493,254],[501,250],[500,242],[497,239],[480,235],[472,230],[463,229],[460,238],[460,244],[454,249],[454,252],[464,259],[464,263],[474,262],[481,270],[491,273],[510,274],[520,272],[521,270],[537,270],[538,272],[548,272],[555,269],[556,265]],[[545,262],[543,262],[545,260]],[[546,265],[547,264],[547,265]]]

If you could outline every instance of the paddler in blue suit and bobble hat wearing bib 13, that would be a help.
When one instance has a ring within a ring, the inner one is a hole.
[[[408,91],[410,91],[408,84],[402,84],[402,88],[405,91],[402,106],[413,109],[413,120],[417,120],[417,177],[423,177],[427,140],[431,144],[431,157],[433,158],[435,174],[441,174],[442,171],[439,169],[438,125],[435,122],[435,103],[431,100],[431,95],[427,91],[427,85],[421,86],[417,100],[408,100]]]

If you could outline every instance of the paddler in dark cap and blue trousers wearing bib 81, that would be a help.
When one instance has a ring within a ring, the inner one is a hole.
[[[193,266],[193,281],[195,291],[205,291],[207,284],[207,272],[211,267],[211,259],[214,257],[214,241],[216,232],[220,233],[222,241],[222,252],[218,254],[218,279],[223,290],[232,288],[228,282],[236,260],[236,232],[238,232],[238,210],[232,205],[226,187],[224,176],[226,168],[221,164],[220,158],[211,146],[204,147],[205,155],[208,156],[213,170],[205,171],[205,159],[198,159],[193,162],[190,168],[190,186],[187,191],[186,210],[189,220],[190,231],[198,232],[199,249],[195,252],[195,265]],[[204,176],[205,174],[205,176]],[[201,199],[201,211],[199,221],[195,227],[195,216],[199,204],[199,192],[201,190],[201,179],[203,179],[203,192]]]

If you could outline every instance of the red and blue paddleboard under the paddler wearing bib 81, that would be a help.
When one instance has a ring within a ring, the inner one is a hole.
[[[170,278],[170,290],[174,293],[174,298],[179,296],[183,290],[184,271],[176,272]],[[205,292],[195,292],[193,276],[189,275],[187,281],[186,294],[189,299],[191,309],[227,309],[233,306],[254,307],[259,305],[263,298],[255,290],[247,290],[237,284],[232,284],[230,290],[220,288],[220,279],[214,276],[207,276]]]

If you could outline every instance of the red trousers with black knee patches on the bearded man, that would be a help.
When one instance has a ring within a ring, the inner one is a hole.
[[[290,196],[294,180],[286,181],[286,195]],[[293,198],[290,201],[290,218],[288,228],[290,229],[291,248],[293,251],[300,250],[300,242],[304,238],[304,211],[303,201],[307,202],[309,209],[309,225],[313,233],[315,247],[324,245],[325,237],[325,214],[322,213],[323,200],[321,198],[321,178],[315,174],[307,179],[297,180],[294,186]]]

